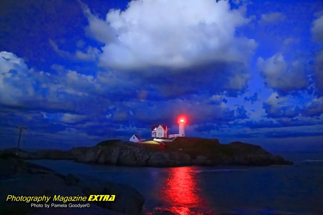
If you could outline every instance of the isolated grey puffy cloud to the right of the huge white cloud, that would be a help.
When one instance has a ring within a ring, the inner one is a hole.
[[[304,68],[297,61],[288,64],[281,53],[264,60],[258,58],[260,69],[269,87],[281,93],[291,93],[307,87]]]

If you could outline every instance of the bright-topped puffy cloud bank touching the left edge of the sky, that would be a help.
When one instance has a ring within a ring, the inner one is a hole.
[[[78,97],[87,96],[95,92],[96,87],[99,88],[93,76],[58,66],[55,66],[56,73],[37,72],[28,69],[24,60],[13,53],[1,52],[0,55],[2,105],[34,110],[53,108],[60,112],[65,109],[70,112],[78,109]]]

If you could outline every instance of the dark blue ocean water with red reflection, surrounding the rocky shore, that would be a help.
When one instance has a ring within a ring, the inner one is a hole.
[[[323,215],[323,153],[287,153],[294,166],[142,168],[35,160],[62,174],[124,183],[145,197],[145,213]]]

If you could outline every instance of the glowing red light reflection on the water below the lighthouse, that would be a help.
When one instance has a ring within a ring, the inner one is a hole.
[[[197,211],[193,212],[191,208],[205,209],[194,174],[191,167],[171,168],[165,186],[160,193],[161,200],[168,207],[155,209],[168,210],[180,215],[199,214]]]

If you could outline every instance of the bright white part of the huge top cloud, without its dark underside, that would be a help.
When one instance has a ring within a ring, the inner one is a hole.
[[[122,12],[110,10],[106,20],[83,6],[88,34],[105,44],[100,62],[108,67],[245,62],[256,47],[255,40],[235,36],[249,19],[245,9],[231,10],[228,1],[133,0]]]

